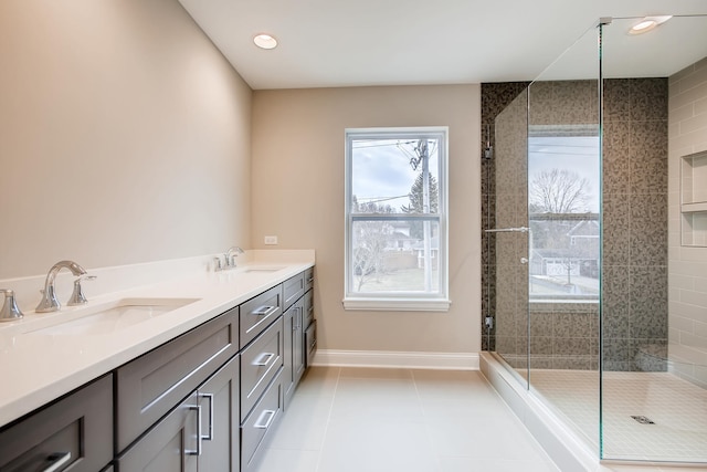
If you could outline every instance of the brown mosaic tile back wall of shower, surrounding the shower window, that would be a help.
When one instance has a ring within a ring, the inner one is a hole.
[[[494,144],[495,117],[525,86],[482,85],[484,143],[490,135]],[[531,112],[531,124],[597,123],[595,90],[595,82],[535,84],[531,111],[540,113]],[[606,81],[604,96],[604,367],[659,370],[667,340],[667,81]],[[496,162],[482,164],[486,229],[496,224]],[[483,308],[494,316],[498,237],[483,235]],[[530,316],[532,366],[598,367],[597,305],[535,304]],[[483,333],[484,349],[499,350],[498,333]]]

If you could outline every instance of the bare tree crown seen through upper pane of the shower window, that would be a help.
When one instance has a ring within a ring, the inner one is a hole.
[[[531,210],[545,213],[585,211],[590,185],[587,178],[567,169],[542,170],[530,182]]]

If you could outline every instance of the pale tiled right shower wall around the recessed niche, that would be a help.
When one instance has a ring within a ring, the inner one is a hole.
[[[679,207],[680,160],[707,151],[707,57],[674,74],[668,86],[668,355],[673,371],[707,388],[707,248],[680,245]]]

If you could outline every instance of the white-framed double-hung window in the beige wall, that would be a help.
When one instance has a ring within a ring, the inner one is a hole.
[[[347,310],[445,311],[447,128],[346,130]]]

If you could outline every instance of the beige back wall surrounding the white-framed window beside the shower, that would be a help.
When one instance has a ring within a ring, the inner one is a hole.
[[[251,239],[316,250],[323,349],[481,349],[478,85],[256,91]],[[344,130],[450,127],[449,313],[352,312],[344,297]]]

